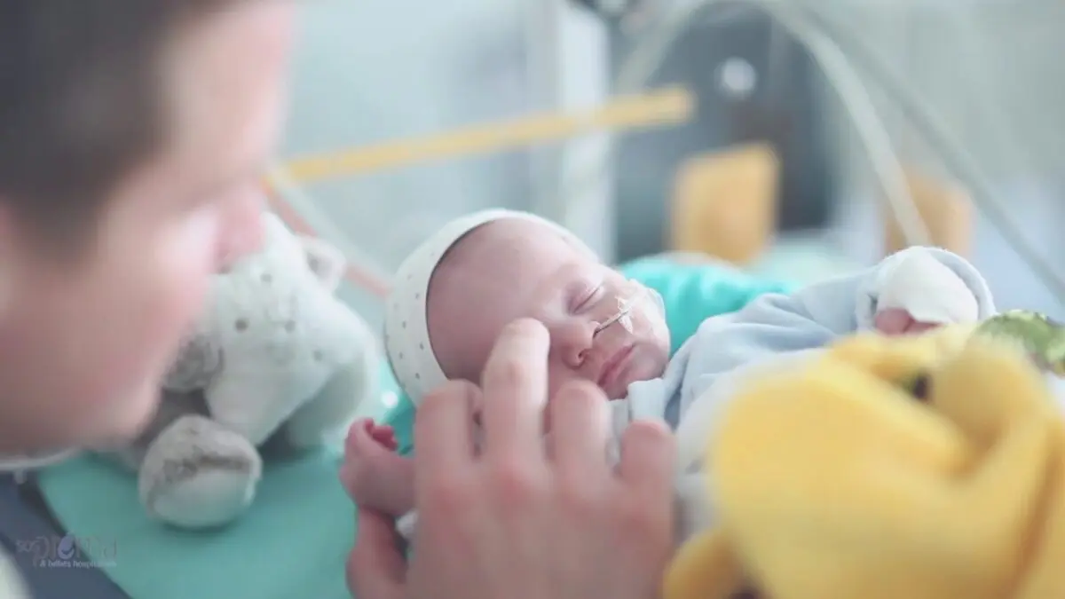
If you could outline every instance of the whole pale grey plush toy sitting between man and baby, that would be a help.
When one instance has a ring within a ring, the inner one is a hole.
[[[334,295],[343,256],[263,218],[264,248],[213,280],[150,426],[110,454],[136,471],[148,515],[171,525],[237,518],[261,449],[339,443],[360,404],[377,400],[378,341]]]

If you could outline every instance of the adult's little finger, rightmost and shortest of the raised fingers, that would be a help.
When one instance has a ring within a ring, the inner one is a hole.
[[[661,422],[637,421],[621,437],[618,472],[632,492],[658,501],[672,497],[676,441]]]

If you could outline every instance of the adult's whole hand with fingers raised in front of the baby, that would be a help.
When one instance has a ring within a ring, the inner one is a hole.
[[[481,388],[450,383],[415,422],[419,509],[409,568],[390,522],[362,511],[348,568],[358,599],[653,599],[673,549],[674,446],[637,423],[607,464],[607,399],[564,387],[548,409],[547,331],[501,336]],[[475,451],[473,408],[482,406]],[[548,455],[551,457],[548,457]]]

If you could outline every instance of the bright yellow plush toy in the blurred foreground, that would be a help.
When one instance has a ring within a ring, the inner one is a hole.
[[[858,337],[750,384],[665,599],[1065,598],[1065,421],[1017,347]]]

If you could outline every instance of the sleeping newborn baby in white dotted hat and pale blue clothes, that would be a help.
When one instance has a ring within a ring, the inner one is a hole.
[[[449,223],[404,262],[387,307],[386,346],[416,405],[448,378],[478,381],[503,327],[535,318],[551,333],[551,396],[569,381],[591,381],[610,400],[624,400],[611,404],[616,431],[637,418],[677,430],[704,394],[721,401],[707,391],[740,367],[857,330],[918,333],[994,312],[980,274],[935,248],[911,248],[867,271],[708,319],[672,359],[661,306],[654,291],[561,227],[488,211]],[[712,409],[699,407],[705,421]],[[389,427],[356,423],[341,477],[357,503],[399,517],[413,508],[413,469],[394,450]]]

